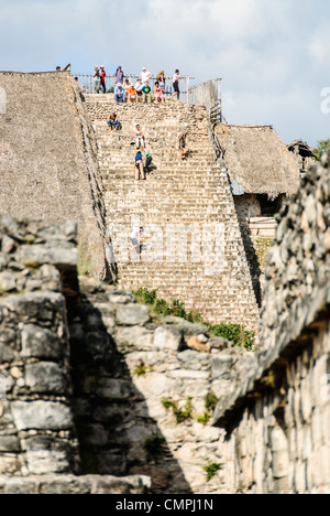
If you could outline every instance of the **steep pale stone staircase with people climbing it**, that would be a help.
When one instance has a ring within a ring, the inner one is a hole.
[[[86,109],[97,136],[108,226],[112,228],[117,258],[117,233],[125,233],[124,246],[130,249],[132,227],[145,228],[141,256],[124,252],[118,259],[119,284],[127,289],[158,289],[158,297],[178,299],[188,310],[201,312],[207,321],[239,322],[255,329],[258,310],[227,173],[215,162],[206,108],[180,101],[122,105],[110,95],[89,95]],[[118,132],[107,126],[113,110],[122,123]],[[136,148],[132,143],[138,123],[153,157],[146,181],[135,181],[134,176]],[[189,132],[191,153],[187,161],[179,160],[177,149],[183,130]],[[187,259],[185,247],[179,248],[178,243],[175,259],[166,254],[166,232],[172,225],[182,225],[184,239],[185,230],[197,229],[194,236],[188,230]],[[194,262],[191,255],[191,239],[198,244],[205,225],[212,226],[212,238],[217,226],[223,225],[224,229],[224,267],[216,267],[216,273],[210,273],[216,262],[206,262],[204,252],[200,262]]]

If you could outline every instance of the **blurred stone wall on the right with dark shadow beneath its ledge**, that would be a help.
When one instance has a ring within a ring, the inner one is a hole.
[[[329,164],[328,152],[283,209],[260,351],[217,408],[229,492],[330,493]]]

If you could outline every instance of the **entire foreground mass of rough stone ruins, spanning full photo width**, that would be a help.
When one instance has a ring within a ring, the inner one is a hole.
[[[130,292],[84,278],[77,289],[72,224],[2,216],[2,493],[330,492],[323,165],[283,213],[256,353],[200,325],[154,320]],[[220,401],[202,424],[211,391]],[[185,411],[188,398],[183,420],[162,402]],[[221,467],[208,482],[211,462]]]

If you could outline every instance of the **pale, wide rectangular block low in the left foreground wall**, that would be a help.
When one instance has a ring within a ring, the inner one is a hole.
[[[14,401],[12,415],[18,430],[65,430],[73,428],[69,407],[52,401]]]

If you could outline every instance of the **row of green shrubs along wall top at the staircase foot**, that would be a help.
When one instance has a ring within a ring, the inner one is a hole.
[[[187,312],[183,302],[172,300],[170,303],[168,303],[164,299],[158,299],[157,290],[140,288],[139,290],[133,291],[133,294],[139,303],[151,307],[151,312],[154,315],[175,315],[188,322],[202,323],[208,327],[210,335],[221,336],[231,341],[235,346],[245,347],[249,351],[254,346],[254,333],[244,330],[244,326],[240,324],[209,324],[202,320],[200,313]]]

